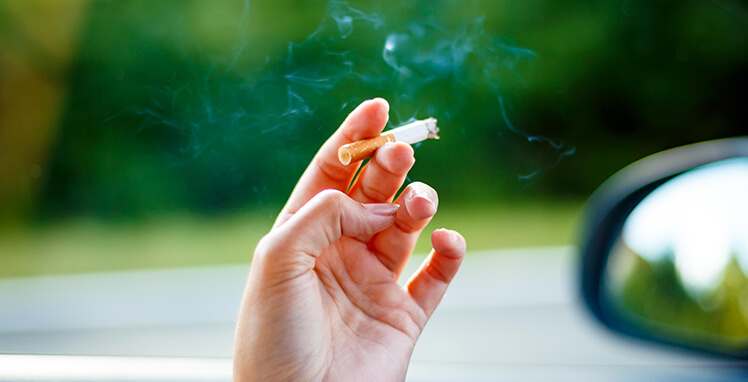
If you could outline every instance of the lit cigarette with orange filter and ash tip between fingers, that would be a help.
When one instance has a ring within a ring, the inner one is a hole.
[[[405,142],[412,145],[429,138],[439,139],[438,133],[439,128],[436,126],[435,118],[411,122],[407,125],[385,131],[378,137],[340,146],[340,149],[338,149],[338,159],[340,159],[340,163],[347,165],[370,158],[374,155],[374,151],[377,151],[378,148],[387,142]]]

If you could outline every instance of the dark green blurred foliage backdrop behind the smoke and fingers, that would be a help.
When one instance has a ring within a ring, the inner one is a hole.
[[[278,206],[374,96],[394,124],[440,120],[411,179],[442,200],[578,199],[644,155],[745,134],[745,14],[727,0],[90,2],[35,216]],[[388,56],[392,36],[405,40]]]

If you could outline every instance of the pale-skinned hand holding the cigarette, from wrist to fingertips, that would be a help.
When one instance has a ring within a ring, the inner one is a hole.
[[[405,287],[397,280],[436,213],[436,191],[412,183],[413,149],[388,143],[360,164],[346,143],[387,123],[383,99],[362,103],[320,148],[258,244],[237,320],[235,381],[402,381],[411,353],[465,255],[454,231]]]

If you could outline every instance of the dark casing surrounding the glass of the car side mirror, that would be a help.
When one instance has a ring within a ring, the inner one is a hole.
[[[603,269],[623,222],[636,205],[666,181],[696,167],[748,157],[748,137],[696,143],[666,150],[623,168],[600,186],[581,213],[581,292],[589,311],[613,331],[660,343],[727,356],[748,359],[748,348],[737,352],[681,343],[620,325],[602,309],[600,290]]]

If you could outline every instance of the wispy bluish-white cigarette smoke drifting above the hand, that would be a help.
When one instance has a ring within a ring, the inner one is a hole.
[[[259,153],[267,145],[282,146],[279,157],[301,156],[302,149],[319,143],[310,140],[315,133],[332,131],[344,114],[374,95],[390,101],[393,125],[428,116],[449,125],[464,118],[477,87],[494,100],[485,114],[497,121],[497,134],[522,153],[513,160],[525,161],[533,151],[551,153],[519,179],[552,169],[574,153],[510,122],[504,84],[507,76],[523,82],[519,68],[537,59],[532,50],[486,32],[486,19],[471,15],[464,2],[398,7],[364,9],[331,0],[306,38],[269,50],[257,64],[251,52],[257,37],[248,30],[257,20],[245,3],[228,53],[208,53],[185,36],[180,53],[188,71],[175,74],[168,85],[149,86],[148,105],[130,107],[108,121],[129,113],[141,121],[134,134],[171,130],[179,149],[164,152],[175,166],[210,155],[241,168],[262,160],[247,151]]]

